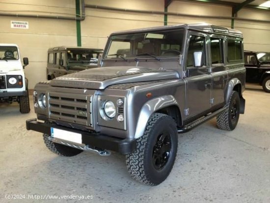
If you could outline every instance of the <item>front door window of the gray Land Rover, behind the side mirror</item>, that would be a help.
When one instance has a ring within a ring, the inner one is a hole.
[[[203,36],[189,36],[189,51],[187,58],[187,67],[193,66],[193,53],[196,51],[202,51],[203,53],[203,65],[206,64],[205,60],[205,37]]]

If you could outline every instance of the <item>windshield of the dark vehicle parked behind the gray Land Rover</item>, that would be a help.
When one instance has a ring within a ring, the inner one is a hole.
[[[102,51],[69,49],[67,50],[67,58],[70,65],[97,64],[101,53]]]

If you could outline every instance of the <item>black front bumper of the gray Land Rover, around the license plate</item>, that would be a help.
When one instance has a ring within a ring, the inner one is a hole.
[[[45,133],[51,136],[51,128],[58,128],[61,130],[66,130],[74,133],[80,133],[82,143],[84,145],[89,145],[91,148],[101,148],[119,152],[121,154],[130,154],[136,148],[135,139],[120,139],[111,137],[108,135],[103,135],[100,133],[89,133],[81,130],[76,130],[72,128],[62,127],[55,124],[47,124],[39,122],[34,119],[28,119],[26,121],[27,130],[33,130],[40,133]]]

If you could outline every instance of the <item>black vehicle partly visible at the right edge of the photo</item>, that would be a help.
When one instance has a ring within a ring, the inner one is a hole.
[[[270,93],[270,53],[244,51],[246,82],[259,83]]]

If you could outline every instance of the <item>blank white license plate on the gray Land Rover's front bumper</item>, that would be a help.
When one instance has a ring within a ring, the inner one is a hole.
[[[58,139],[70,141],[73,143],[79,143],[79,144],[82,143],[80,133],[74,133],[74,132],[69,132],[66,130],[60,130],[57,128],[51,128],[51,136],[53,138],[58,138]]]

